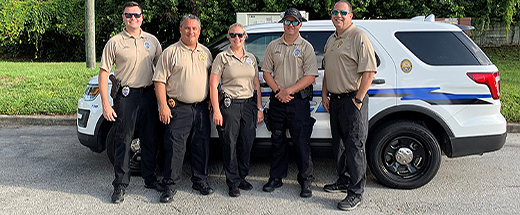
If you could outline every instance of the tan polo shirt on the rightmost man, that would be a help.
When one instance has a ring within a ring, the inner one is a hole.
[[[376,55],[367,34],[352,24],[339,37],[333,33],[325,43],[323,66],[327,90],[335,94],[359,89],[365,71],[376,71]]]

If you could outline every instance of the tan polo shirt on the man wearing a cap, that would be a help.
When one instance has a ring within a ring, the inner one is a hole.
[[[318,76],[314,48],[301,35],[293,44],[287,44],[281,35],[267,45],[262,71],[272,74],[282,88],[291,87],[303,76]]]

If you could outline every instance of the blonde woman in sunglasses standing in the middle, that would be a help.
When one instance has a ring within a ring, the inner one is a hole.
[[[213,122],[217,125],[223,146],[223,163],[229,196],[240,196],[240,189],[250,190],[245,180],[249,174],[249,160],[256,124],[263,120],[257,60],[245,51],[248,34],[243,25],[229,26],[227,38],[231,46],[219,53],[209,77],[209,93],[213,108]],[[220,101],[218,83],[222,80]],[[254,91],[256,90],[256,91]],[[256,96],[254,96],[256,93]]]

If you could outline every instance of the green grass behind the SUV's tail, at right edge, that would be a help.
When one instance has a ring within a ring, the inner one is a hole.
[[[483,49],[499,68],[501,112],[509,122],[520,121],[520,46]]]

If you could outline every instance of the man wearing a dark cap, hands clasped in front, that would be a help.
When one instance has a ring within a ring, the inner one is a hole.
[[[271,192],[282,186],[287,176],[288,141],[286,130],[296,148],[297,181],[302,186],[300,196],[312,196],[313,164],[310,140],[315,119],[311,118],[309,96],[315,76],[318,76],[313,46],[299,33],[302,22],[300,11],[289,8],[279,21],[284,35],[270,42],[263,60],[263,79],[272,89],[269,98],[268,121],[271,128],[272,161],[269,181],[263,191]]]

